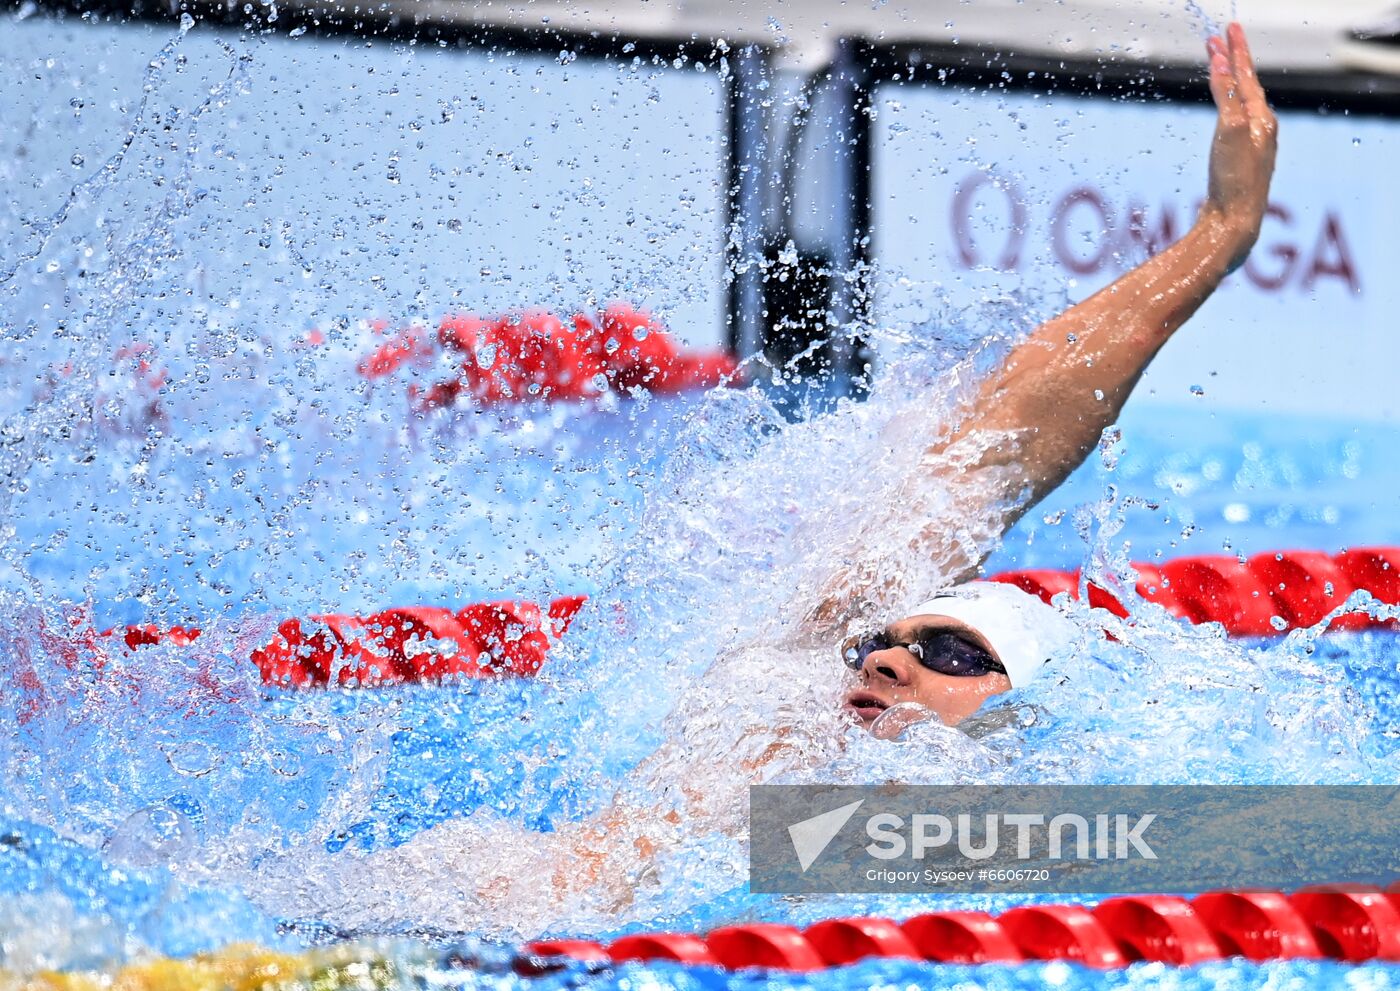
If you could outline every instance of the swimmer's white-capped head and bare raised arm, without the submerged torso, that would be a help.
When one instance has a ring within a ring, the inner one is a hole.
[[[1243,28],[1211,38],[1210,87],[1218,112],[1207,197],[1191,230],[1089,300],[1046,322],[981,388],[958,437],[1011,431],[1029,497],[1009,528],[1088,456],[1152,357],[1243,263],[1268,203],[1278,123],[1254,74]],[[995,459],[998,451],[988,455]],[[956,725],[991,696],[1025,686],[1074,637],[1072,624],[1009,585],[967,581],[913,614],[841,647],[857,684],[846,711],[897,733],[885,712],[913,703]],[[830,602],[825,612],[834,614]],[[883,735],[883,733],[882,733]]]

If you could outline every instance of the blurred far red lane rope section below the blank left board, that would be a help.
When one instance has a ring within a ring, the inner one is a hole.
[[[410,384],[414,407],[578,402],[631,389],[686,392],[731,381],[738,371],[724,351],[683,351],[659,321],[627,304],[575,314],[568,322],[543,309],[452,315],[435,332],[427,326],[395,332],[360,361],[358,371],[368,379],[386,378],[403,367],[430,368],[444,356],[456,363],[455,377],[426,388]]]

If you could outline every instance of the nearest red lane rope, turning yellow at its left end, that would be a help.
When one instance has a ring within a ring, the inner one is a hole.
[[[640,932],[608,946],[587,939],[526,943],[494,955],[459,945],[344,942],[302,953],[234,945],[193,957],[157,959],[101,973],[45,971],[18,978],[0,970],[0,987],[24,991],[99,988],[336,988],[479,987],[482,973],[542,977],[567,969],[605,971],[629,963],[669,962],[725,971],[815,971],[868,959],[938,964],[1022,966],[1064,962],[1110,970],[1151,962],[1194,966],[1228,957],[1252,963],[1331,959],[1347,964],[1400,960],[1400,885],[1387,892],[1317,886],[1280,892],[1208,892],[1114,897],[1088,908],[1037,904],[991,915],[981,911],[925,913],[895,922],[881,917],[830,918],[798,929],[752,922],[704,935]],[[475,976],[475,977],[473,977]]]

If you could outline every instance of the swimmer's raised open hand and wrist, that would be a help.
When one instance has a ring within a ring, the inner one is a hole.
[[[1225,36],[1212,36],[1205,49],[1211,60],[1211,97],[1219,116],[1201,214],[1229,239],[1229,267],[1235,269],[1259,239],[1278,150],[1278,120],[1268,109],[1239,24],[1231,24]]]

